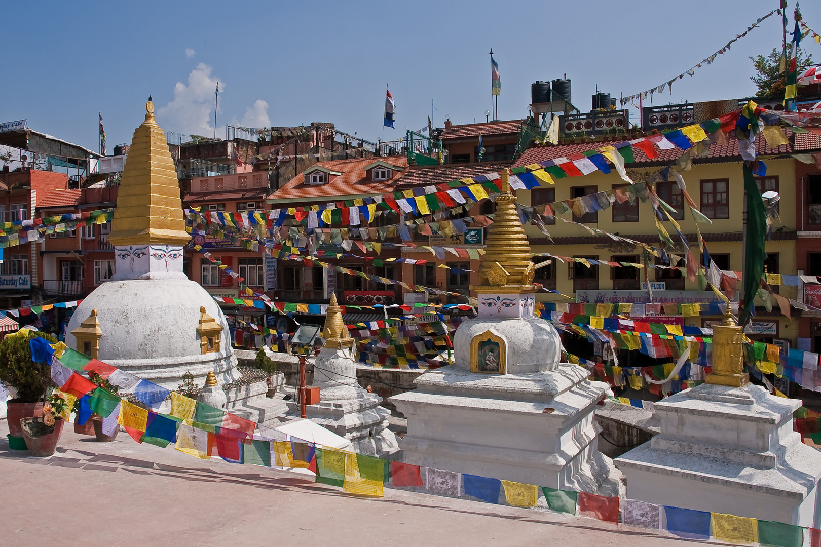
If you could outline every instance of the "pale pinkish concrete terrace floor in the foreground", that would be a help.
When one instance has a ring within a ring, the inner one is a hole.
[[[359,498],[292,473],[137,444],[122,431],[97,443],[67,426],[56,454],[30,458],[8,449],[0,421],[0,545],[685,543],[666,532],[388,488],[384,498]]]

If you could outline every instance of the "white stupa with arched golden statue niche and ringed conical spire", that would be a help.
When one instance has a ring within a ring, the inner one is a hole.
[[[559,362],[556,329],[534,316],[530,246],[509,171],[488,228],[479,317],[453,338],[455,362],[391,398],[407,417],[407,463],[589,494],[619,495],[621,474],[596,448],[596,403],[608,385]]]

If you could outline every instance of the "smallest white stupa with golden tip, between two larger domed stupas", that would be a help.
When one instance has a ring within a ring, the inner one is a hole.
[[[319,386],[319,403],[305,408],[306,416],[320,426],[351,441],[353,450],[378,458],[398,452],[397,438],[388,429],[391,411],[379,406],[382,398],[368,393],[356,383],[354,339],[342,321],[337,295],[331,295],[322,336],[325,345],[314,360],[314,385]],[[298,403],[288,403],[286,417],[298,417]]]

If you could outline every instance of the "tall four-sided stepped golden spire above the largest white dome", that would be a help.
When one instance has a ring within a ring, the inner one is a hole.
[[[165,134],[145,103],[145,121],[134,131],[122,171],[111,235],[114,245],[184,245],[190,235],[182,217],[180,185]]]

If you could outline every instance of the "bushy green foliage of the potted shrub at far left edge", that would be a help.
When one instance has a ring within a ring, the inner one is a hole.
[[[6,336],[0,342],[0,382],[17,392],[21,403],[37,403],[46,397],[46,391],[53,384],[51,365],[31,360],[32,338],[44,338],[54,344],[52,335],[35,330],[26,330],[18,335]]]

